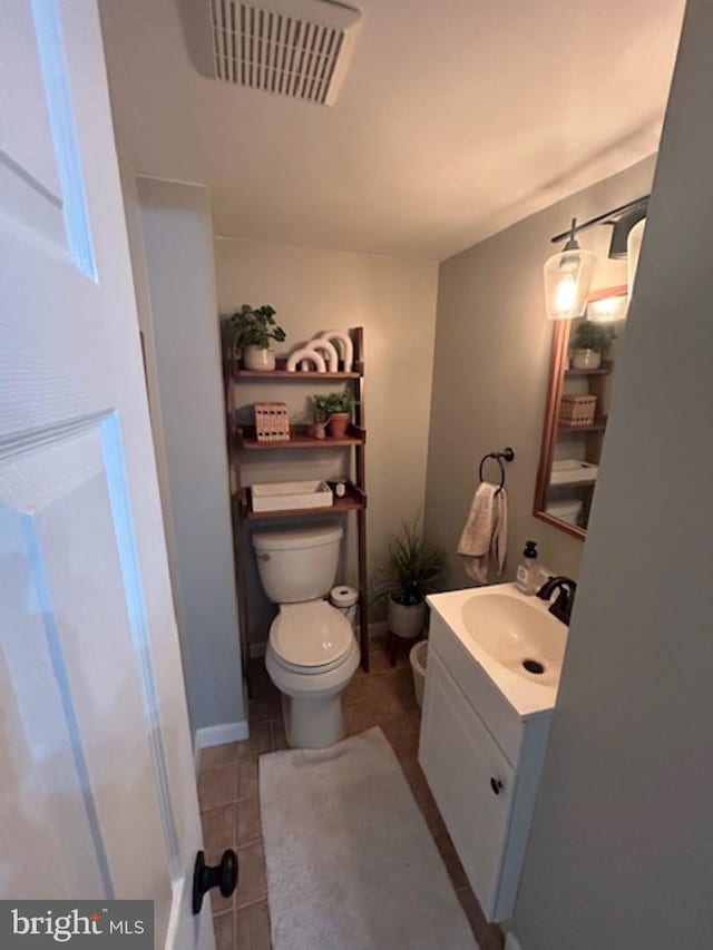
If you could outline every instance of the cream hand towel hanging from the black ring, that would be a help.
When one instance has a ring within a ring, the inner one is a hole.
[[[502,574],[508,542],[508,500],[505,489],[480,482],[473,494],[468,520],[458,542],[466,570],[479,584],[488,582],[490,568]]]

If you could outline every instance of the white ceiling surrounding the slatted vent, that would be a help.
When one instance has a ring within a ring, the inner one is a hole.
[[[139,173],[209,185],[222,235],[436,259],[656,150],[684,8],[354,0],[330,108],[198,75],[177,2],[101,0]]]

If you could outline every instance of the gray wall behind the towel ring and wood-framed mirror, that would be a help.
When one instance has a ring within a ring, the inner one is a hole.
[[[654,159],[606,178],[443,262],[439,274],[431,405],[427,533],[450,554],[450,584],[472,580],[455,554],[478,481],[480,458],[511,445],[507,467],[511,579],[527,538],[544,562],[576,577],[582,541],[531,515],[554,323],[545,316],[543,265],[553,234],[646,194]],[[626,283],[625,262],[607,259],[609,227],[582,235],[596,252],[594,288]],[[498,476],[489,462],[486,478]]]

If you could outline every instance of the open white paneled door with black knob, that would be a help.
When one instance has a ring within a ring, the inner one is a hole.
[[[211,948],[97,4],[0,23],[0,897]]]

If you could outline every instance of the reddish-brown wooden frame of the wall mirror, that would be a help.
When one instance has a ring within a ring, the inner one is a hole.
[[[618,297],[627,293],[628,287],[626,284],[605,287],[604,290],[590,293],[587,297],[587,304],[592,301],[604,300],[605,297]],[[554,528],[559,528],[566,535],[570,535],[573,538],[578,538],[580,541],[584,541],[587,537],[586,528],[580,528],[578,525],[570,525],[568,521],[563,521],[561,518],[556,518],[554,515],[549,515],[545,510],[547,503],[547,489],[549,488],[549,474],[555,454],[555,442],[557,441],[559,401],[561,399],[565,384],[565,366],[567,364],[570,329],[570,320],[555,321],[553,330],[551,360],[549,365],[549,383],[547,389],[547,404],[545,407],[545,421],[543,424],[543,438],[540,442],[539,468],[537,470],[533,515],[535,518],[539,518],[540,521],[545,521]],[[600,438],[604,438],[604,432],[600,433]]]

